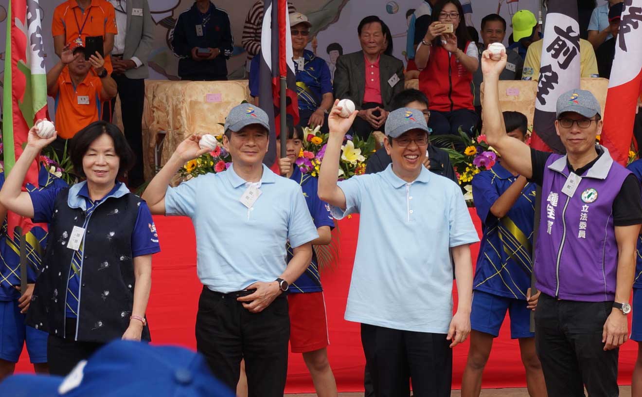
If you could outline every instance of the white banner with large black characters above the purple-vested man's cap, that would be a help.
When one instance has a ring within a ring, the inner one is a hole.
[[[537,150],[566,152],[555,132],[555,107],[561,94],[580,87],[580,25],[577,15],[575,1],[548,1],[531,141]]]

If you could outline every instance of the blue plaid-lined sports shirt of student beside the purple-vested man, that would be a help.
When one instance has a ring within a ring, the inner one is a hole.
[[[473,289],[526,299],[533,271],[535,184],[526,184],[503,218],[490,213],[490,207],[516,179],[499,163],[473,178],[475,208],[482,220],[482,245],[477,256]]]

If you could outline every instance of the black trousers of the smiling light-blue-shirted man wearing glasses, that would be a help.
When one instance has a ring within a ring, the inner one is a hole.
[[[453,351],[444,333],[361,324],[361,343],[374,396],[449,397]],[[368,395],[368,394],[366,394]]]

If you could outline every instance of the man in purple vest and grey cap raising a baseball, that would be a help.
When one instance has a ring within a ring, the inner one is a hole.
[[[535,245],[535,348],[549,396],[618,396],[618,348],[642,224],[638,179],[596,145],[600,104],[576,89],[559,96],[555,129],[566,155],[539,152],[508,137],[499,109],[501,60],[482,55],[483,125],[488,143],[542,188]]]

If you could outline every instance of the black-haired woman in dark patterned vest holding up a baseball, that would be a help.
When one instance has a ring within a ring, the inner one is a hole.
[[[0,202],[50,224],[27,323],[49,333],[50,372],[66,375],[112,339],[150,340],[145,311],[152,254],[160,249],[144,200],[117,181],[134,164],[134,154],[115,125],[96,121],[71,140],[74,171],[84,181],[23,192],[31,164],[56,137],[44,139],[38,131],[36,123]]]

